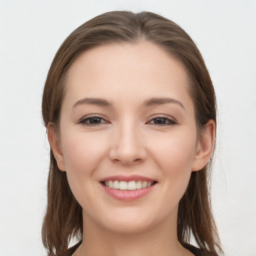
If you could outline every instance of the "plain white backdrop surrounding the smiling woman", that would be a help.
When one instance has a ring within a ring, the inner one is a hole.
[[[48,144],[40,104],[50,62],[78,25],[122,9],[170,18],[201,51],[219,109],[214,215],[226,255],[255,256],[255,0],[0,0],[0,256],[45,255]]]

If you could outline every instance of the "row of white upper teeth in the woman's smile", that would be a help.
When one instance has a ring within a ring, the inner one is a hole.
[[[129,182],[118,181],[118,180],[107,180],[104,181],[104,185],[109,188],[120,189],[120,190],[135,190],[149,187],[153,184],[152,181],[141,181],[141,180],[132,180]]]

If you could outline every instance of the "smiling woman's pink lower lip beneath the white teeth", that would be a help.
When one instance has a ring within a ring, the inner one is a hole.
[[[136,200],[146,194],[148,194],[155,186],[155,184],[152,184],[149,187],[141,188],[141,189],[135,189],[135,190],[120,190],[120,189],[114,189],[109,188],[108,186],[105,186],[101,184],[107,194],[109,194],[111,197],[123,200],[123,201],[132,201]]]

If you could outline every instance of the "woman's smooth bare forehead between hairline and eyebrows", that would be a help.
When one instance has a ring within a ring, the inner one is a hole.
[[[150,42],[101,45],[83,52],[68,70],[69,101],[187,94],[187,76],[176,59]],[[135,96],[136,95],[136,96]],[[187,96],[187,95],[186,95]]]

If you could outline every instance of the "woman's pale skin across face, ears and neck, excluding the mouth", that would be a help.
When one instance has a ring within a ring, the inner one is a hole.
[[[215,125],[200,138],[182,65],[149,42],[102,45],[68,70],[56,138],[48,140],[82,207],[83,241],[74,256],[193,255],[177,240],[178,202],[191,171],[209,160]],[[110,196],[101,180],[154,181],[132,200]]]

